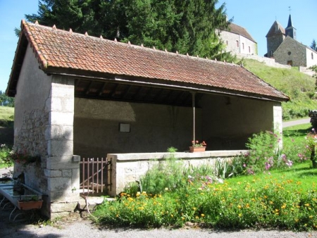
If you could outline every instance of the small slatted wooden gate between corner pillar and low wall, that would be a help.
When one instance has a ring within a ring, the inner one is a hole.
[[[82,158],[80,189],[83,195],[106,194],[111,189],[111,162],[107,158]]]

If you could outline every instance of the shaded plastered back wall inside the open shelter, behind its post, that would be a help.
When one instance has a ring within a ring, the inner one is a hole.
[[[201,108],[197,138],[202,139]],[[74,153],[101,158],[113,153],[188,150],[192,142],[192,107],[75,99]],[[130,132],[120,132],[120,123]]]

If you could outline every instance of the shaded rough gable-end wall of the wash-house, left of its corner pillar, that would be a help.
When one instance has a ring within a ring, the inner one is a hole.
[[[44,175],[47,159],[46,131],[49,111],[46,100],[51,89],[51,77],[38,69],[30,46],[27,47],[15,94],[14,146],[18,152],[39,155],[40,163],[24,166],[15,163],[13,177],[24,173],[25,184],[46,194],[47,178]],[[31,93],[32,92],[32,93]],[[43,213],[49,214],[49,201],[44,201]]]

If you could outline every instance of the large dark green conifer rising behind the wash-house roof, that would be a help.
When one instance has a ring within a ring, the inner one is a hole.
[[[225,30],[225,4],[218,0],[39,0],[37,14],[25,15],[74,32],[155,46],[200,57],[232,61],[216,29]]]

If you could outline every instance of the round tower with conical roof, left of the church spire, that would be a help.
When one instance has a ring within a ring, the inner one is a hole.
[[[266,35],[266,45],[268,49],[266,57],[273,57],[273,53],[276,49],[278,49],[278,46],[280,46],[284,39],[285,29],[284,27],[282,27],[282,25],[280,25],[280,23],[275,20],[270,30],[268,31],[268,34]]]

